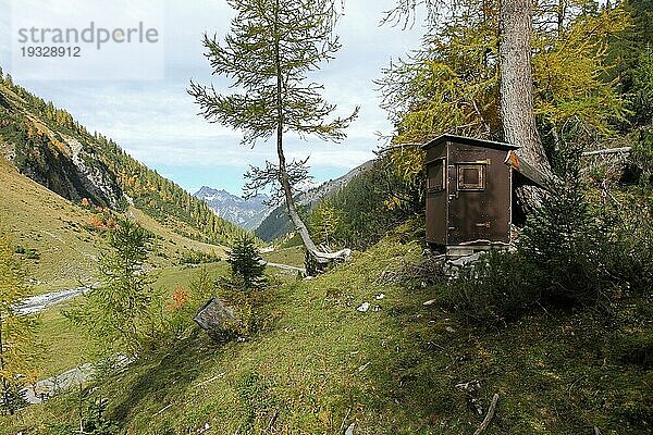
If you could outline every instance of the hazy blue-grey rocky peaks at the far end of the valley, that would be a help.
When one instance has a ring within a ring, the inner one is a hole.
[[[269,207],[264,204],[269,197],[264,194],[243,199],[224,189],[202,186],[193,196],[209,204],[220,217],[248,231],[256,229],[270,212]]]

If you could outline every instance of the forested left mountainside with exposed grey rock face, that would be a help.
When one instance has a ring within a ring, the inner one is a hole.
[[[73,202],[126,209],[130,202],[177,234],[230,244],[243,233],[175,183],[137,162],[113,140],[51,102],[0,79],[0,156]]]

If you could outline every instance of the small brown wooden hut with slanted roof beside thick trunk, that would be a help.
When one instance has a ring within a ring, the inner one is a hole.
[[[513,214],[510,151],[519,147],[444,135],[427,151],[427,243],[447,253],[507,246]]]

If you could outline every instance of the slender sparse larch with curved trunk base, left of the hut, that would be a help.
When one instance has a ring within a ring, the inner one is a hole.
[[[356,108],[348,116],[333,116],[336,107],[322,98],[323,87],[307,78],[341,47],[334,35],[337,11],[333,0],[229,0],[229,4],[237,13],[231,34],[224,42],[205,35],[204,45],[214,74],[229,77],[238,92],[219,94],[212,85],[190,82],[188,94],[209,122],[242,130],[244,145],[273,137],[278,161],[248,171],[246,196],[274,186],[307,251],[325,259],[329,256],[316,247],[293,199],[296,184],[308,176],[307,160],[288,162],[284,139],[293,132],[342,141],[358,114]]]

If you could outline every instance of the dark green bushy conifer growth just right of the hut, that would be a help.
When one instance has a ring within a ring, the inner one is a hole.
[[[444,304],[473,323],[516,320],[535,307],[596,307],[643,296],[653,284],[651,212],[633,206],[595,209],[586,199],[578,160],[534,210],[516,252],[490,252],[444,289]]]

